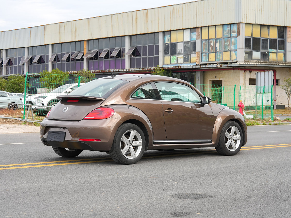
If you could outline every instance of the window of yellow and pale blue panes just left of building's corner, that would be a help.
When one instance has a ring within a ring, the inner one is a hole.
[[[201,28],[201,62],[225,62],[237,58],[237,24]]]

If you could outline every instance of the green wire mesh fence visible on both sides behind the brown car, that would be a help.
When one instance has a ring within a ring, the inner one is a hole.
[[[33,110],[38,115],[46,115],[49,109],[58,100],[56,96],[65,95],[80,85],[95,78],[86,78],[76,75],[35,75],[26,73],[25,93],[31,96],[24,101],[30,106],[24,107],[25,111]],[[212,98],[212,102],[239,110],[238,103],[242,100],[246,118],[273,119],[273,86],[255,85],[194,85],[205,96]],[[25,95],[24,95],[25,96]]]

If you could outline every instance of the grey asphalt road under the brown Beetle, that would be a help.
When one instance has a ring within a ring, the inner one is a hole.
[[[93,151],[61,158],[37,133],[0,134],[0,217],[290,217],[290,136],[291,125],[251,126],[235,156],[147,151],[119,165]]]

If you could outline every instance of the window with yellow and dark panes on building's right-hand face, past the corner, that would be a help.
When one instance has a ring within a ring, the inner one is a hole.
[[[245,24],[244,60],[285,62],[285,27]]]

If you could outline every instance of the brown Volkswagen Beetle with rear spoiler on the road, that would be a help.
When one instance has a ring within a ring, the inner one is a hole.
[[[239,112],[210,103],[176,78],[108,76],[57,98],[40,124],[40,137],[62,157],[104,151],[118,163],[134,164],[148,149],[215,147],[229,156],[246,144]]]

